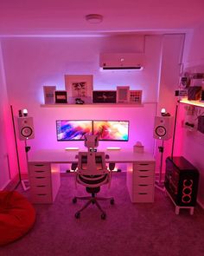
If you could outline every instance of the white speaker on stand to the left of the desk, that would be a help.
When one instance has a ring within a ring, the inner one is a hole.
[[[33,117],[18,117],[19,139],[24,141],[26,139],[34,139],[34,124]]]

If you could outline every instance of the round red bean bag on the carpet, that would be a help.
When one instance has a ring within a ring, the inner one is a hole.
[[[22,237],[35,222],[35,208],[16,191],[0,191],[0,246]]]

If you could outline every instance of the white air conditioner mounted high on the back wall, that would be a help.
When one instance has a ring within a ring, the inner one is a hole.
[[[99,65],[103,70],[143,69],[144,56],[141,53],[101,53]]]

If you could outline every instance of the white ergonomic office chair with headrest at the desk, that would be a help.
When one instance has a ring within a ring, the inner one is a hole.
[[[81,207],[79,211],[75,213],[76,219],[80,218],[80,213],[86,209],[91,203],[95,204],[100,212],[101,219],[105,220],[106,213],[100,207],[99,200],[110,200],[111,204],[114,204],[113,197],[98,197],[96,194],[100,191],[100,186],[110,185],[112,178],[112,171],[105,166],[105,153],[96,152],[94,147],[89,147],[90,145],[98,146],[98,142],[92,141],[96,136],[89,138],[86,137],[85,145],[88,148],[88,152],[80,152],[78,154],[78,166],[76,168],[76,182],[86,187],[86,192],[92,194],[91,196],[75,196],[73,198],[73,203],[77,200],[87,200],[84,207]],[[90,140],[92,143],[89,143]]]

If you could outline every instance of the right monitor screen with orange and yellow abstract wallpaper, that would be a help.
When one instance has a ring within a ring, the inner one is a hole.
[[[93,135],[100,141],[128,141],[129,121],[93,121]]]

